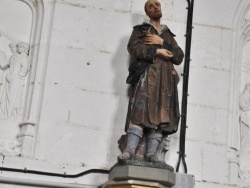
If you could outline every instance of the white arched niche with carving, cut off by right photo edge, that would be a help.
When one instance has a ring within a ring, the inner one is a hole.
[[[243,155],[246,155],[246,153],[244,153],[246,150],[243,150],[247,147],[250,148],[250,142],[246,142],[246,139],[250,139],[247,138],[248,134],[250,136],[250,132],[248,128],[249,122],[247,120],[248,107],[246,106],[248,104],[248,90],[250,88],[249,15],[250,2],[248,0],[241,0],[237,7],[233,23],[228,121],[229,181],[232,184],[244,184],[248,182],[248,185],[250,185],[250,176],[243,180],[241,178],[241,169],[246,167],[243,167],[246,164],[246,161],[244,161],[245,156],[243,157]]]

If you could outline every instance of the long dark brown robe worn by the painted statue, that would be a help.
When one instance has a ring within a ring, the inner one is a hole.
[[[163,38],[163,46],[145,45],[145,31]],[[146,128],[161,129],[165,134],[177,131],[180,118],[177,92],[179,76],[173,64],[181,64],[184,54],[174,36],[165,25],[160,33],[147,23],[134,27],[128,51],[132,62],[144,62],[148,66],[141,71],[138,80],[131,84],[126,129],[131,122]],[[157,48],[171,51],[173,57],[170,60],[156,57]]]

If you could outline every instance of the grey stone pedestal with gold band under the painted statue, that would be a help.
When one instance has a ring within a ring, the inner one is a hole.
[[[134,165],[115,165],[110,171],[109,181],[103,188],[171,188],[175,185],[172,167],[154,168]]]

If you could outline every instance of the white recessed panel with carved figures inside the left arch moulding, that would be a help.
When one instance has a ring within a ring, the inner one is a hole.
[[[23,1],[1,0],[0,16],[0,153],[18,155],[17,134],[31,66],[32,11]]]

